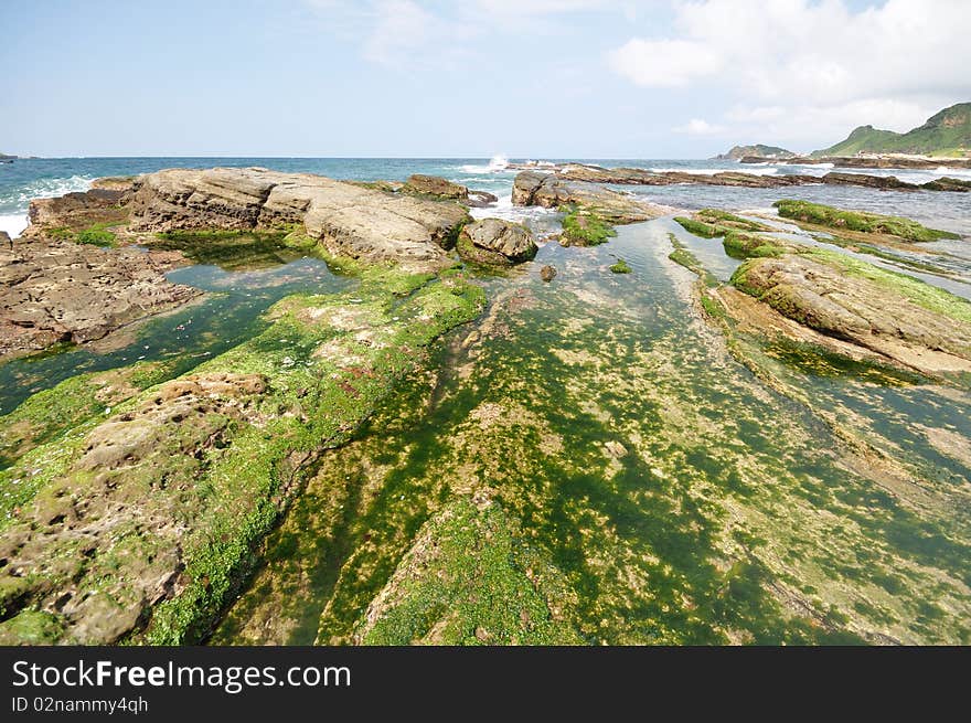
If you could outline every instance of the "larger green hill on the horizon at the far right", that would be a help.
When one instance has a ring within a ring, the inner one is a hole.
[[[843,142],[823,150],[819,156],[854,156],[867,153],[922,153],[925,156],[971,155],[971,103],[959,103],[928,118],[927,123],[906,134],[861,126]]]

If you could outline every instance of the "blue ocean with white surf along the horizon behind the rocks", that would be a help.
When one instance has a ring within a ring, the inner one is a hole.
[[[526,159],[514,159],[522,161]],[[542,159],[555,162],[578,161],[598,166],[677,170],[715,173],[734,170],[749,173],[798,173],[822,176],[828,164],[783,166],[765,163],[740,166],[735,161],[697,159]],[[484,158],[40,158],[0,163],[0,231],[19,235],[26,226],[31,199],[84,191],[96,178],[132,176],[163,168],[211,168],[213,166],[260,166],[279,171],[320,173],[335,179],[361,181],[404,180],[412,173],[441,176],[472,189],[500,196],[490,215],[521,216],[511,208],[510,193],[515,171],[502,157]],[[851,171],[852,172],[852,171]],[[971,179],[971,170],[881,169],[865,170],[873,176],[896,176],[901,181],[922,183],[941,176]],[[648,200],[684,209],[719,206],[736,210],[768,210],[780,198],[800,198],[831,205],[877,213],[907,215],[925,224],[971,235],[971,193],[874,192],[849,187],[797,187],[787,189],[745,189],[707,185],[670,185],[639,189],[626,187]]]

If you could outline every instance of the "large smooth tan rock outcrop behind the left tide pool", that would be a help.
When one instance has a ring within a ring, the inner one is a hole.
[[[455,202],[262,168],[150,173],[130,208],[136,231],[302,224],[331,254],[429,268],[448,265],[445,249],[468,221],[466,209]]]

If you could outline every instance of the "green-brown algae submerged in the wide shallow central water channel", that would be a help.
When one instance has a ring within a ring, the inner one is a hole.
[[[564,269],[556,289],[490,281],[481,325],[329,453],[214,640],[512,641],[514,616],[483,624],[505,612],[463,576],[488,549],[471,535],[454,544],[439,523],[457,503],[501,510],[563,581],[546,596],[551,619],[586,642],[967,639],[967,523],[943,511],[960,492],[936,485],[926,495],[945,502],[919,509],[887,493],[828,410],[754,381],[692,325],[643,258],[643,233],[616,242],[647,277],[622,291],[596,274],[599,249],[578,268],[573,249],[547,246],[544,261]],[[807,376],[874,400],[913,386],[758,359],[757,379]],[[925,449],[915,464],[940,458]],[[436,543],[448,554],[429,562],[420,551]],[[515,571],[505,559],[500,585]]]

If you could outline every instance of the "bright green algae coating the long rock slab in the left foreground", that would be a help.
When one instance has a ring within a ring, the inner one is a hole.
[[[207,403],[215,405],[212,408],[199,407],[201,416],[195,421],[183,423],[180,413],[153,432],[159,442],[147,456],[132,458],[122,468],[124,476],[111,471],[100,475],[114,477],[121,485],[119,490],[135,498],[140,497],[138,489],[154,489],[153,497],[140,504],[148,510],[171,504],[168,513],[174,513],[188,530],[179,542],[185,565],[179,593],[151,609],[146,632],[142,636],[136,630],[130,641],[179,644],[206,635],[213,616],[249,570],[253,549],[299,490],[305,465],[321,449],[342,444],[420,360],[435,338],[470,320],[483,306],[482,289],[461,274],[449,274],[429,284],[428,275],[394,269],[385,273],[388,283],[383,285],[381,270],[371,269],[356,296],[302,295],[278,302],[270,310],[271,323],[266,330],[195,370],[195,375],[203,379],[248,373],[266,380],[263,393],[248,406],[237,407],[244,412],[242,417],[239,412],[226,416],[220,410],[234,407],[216,402]],[[150,382],[151,375],[145,370],[138,374],[132,372],[130,378]],[[81,390],[92,386],[88,379],[65,384]],[[128,417],[139,408],[152,408],[151,400],[159,398],[153,396],[157,393],[158,387],[149,387],[121,402],[111,419],[118,414]],[[18,412],[29,418],[42,404],[43,398],[29,400]],[[88,482],[76,471],[77,460],[84,449],[90,449],[87,440],[99,428],[99,411],[89,393],[78,395],[76,403],[58,418],[52,417],[49,426],[71,427],[86,421],[56,443],[26,451],[0,472],[0,481],[15,483],[19,492],[8,508],[8,524],[22,524],[23,503],[29,499],[34,500],[31,513],[56,524],[63,517],[45,510],[62,504],[58,490],[71,489],[73,499],[84,498]],[[195,454],[186,455],[191,449]],[[158,489],[162,480],[188,479],[194,480],[191,493],[182,485],[164,493]],[[128,533],[115,531],[122,538],[129,534],[131,549],[141,550],[130,553],[128,560],[134,555],[151,561],[171,544],[140,530],[137,515],[132,523],[134,528],[126,528]],[[51,545],[47,555],[53,564],[61,564],[58,554],[71,555],[68,543]],[[126,609],[137,600],[124,599],[127,563],[118,560],[114,550],[95,552],[89,562],[82,562],[75,573],[76,585],[83,594],[85,589],[105,589],[105,582],[98,581],[107,580],[107,594],[114,596],[110,599],[118,602],[119,609]],[[113,568],[115,574],[110,573]],[[2,583],[0,607],[8,619],[0,627],[4,635],[13,635],[21,626],[21,615],[33,609],[31,596],[36,594],[41,580],[8,576]],[[57,578],[49,576],[40,589],[52,584],[57,585]]]

